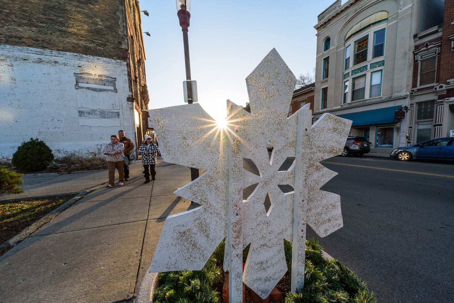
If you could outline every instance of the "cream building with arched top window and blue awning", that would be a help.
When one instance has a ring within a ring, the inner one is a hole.
[[[376,151],[406,145],[414,35],[443,22],[443,0],[337,0],[318,16],[314,120],[353,121]],[[396,115],[396,112],[398,115]]]

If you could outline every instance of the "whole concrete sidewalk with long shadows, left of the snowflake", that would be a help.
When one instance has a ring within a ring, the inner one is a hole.
[[[14,198],[92,192],[0,257],[2,302],[129,302],[165,218],[194,207],[173,194],[191,181],[187,167],[158,160],[149,184],[142,171],[133,162],[130,180],[113,189],[107,170],[25,176]]]

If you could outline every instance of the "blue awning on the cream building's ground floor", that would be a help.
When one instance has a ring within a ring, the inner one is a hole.
[[[396,108],[400,107],[394,106],[391,108],[378,108],[365,112],[352,112],[349,114],[338,115],[338,117],[353,121],[351,126],[400,122],[400,119],[394,118]]]

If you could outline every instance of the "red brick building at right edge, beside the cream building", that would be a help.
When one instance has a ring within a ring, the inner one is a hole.
[[[454,137],[454,0],[443,23],[415,34],[408,143]]]

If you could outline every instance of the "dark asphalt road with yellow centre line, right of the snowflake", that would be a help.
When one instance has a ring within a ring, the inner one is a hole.
[[[453,302],[454,163],[366,155],[322,164],[338,172],[321,189],[341,195],[344,227],[324,238],[308,227],[307,238],[366,281],[378,302]],[[248,159],[243,167],[255,169]]]

